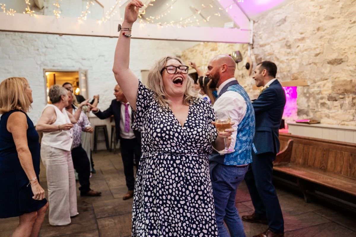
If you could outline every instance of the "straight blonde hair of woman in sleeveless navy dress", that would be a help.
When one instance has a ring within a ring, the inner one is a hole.
[[[25,113],[31,108],[26,87],[28,81],[24,77],[9,77],[0,84],[0,114],[13,109],[19,109]]]

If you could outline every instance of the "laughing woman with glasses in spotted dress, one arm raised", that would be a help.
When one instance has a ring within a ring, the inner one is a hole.
[[[213,143],[223,149],[233,130],[218,135],[213,108],[198,97],[181,59],[158,60],[147,87],[129,69],[131,27],[142,6],[126,6],[113,67],[136,113],[132,128],[142,133],[132,236],[218,236],[208,155]]]

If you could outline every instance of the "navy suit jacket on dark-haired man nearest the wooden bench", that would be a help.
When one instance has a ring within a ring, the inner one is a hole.
[[[253,144],[256,154],[279,152],[278,129],[281,125],[286,94],[282,85],[275,80],[266,88],[252,106],[256,116],[256,132]]]

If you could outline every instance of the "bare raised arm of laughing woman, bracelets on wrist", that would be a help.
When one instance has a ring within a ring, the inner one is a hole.
[[[124,22],[122,28],[131,28],[133,22],[137,20],[138,10],[143,6],[143,3],[139,0],[132,0],[127,4],[125,8]],[[126,37],[131,34],[131,31],[122,29],[117,40],[114,66],[112,71],[114,72],[117,84],[124,92],[127,101],[129,101],[133,110],[136,111],[136,97],[138,90],[138,79],[129,68],[130,61],[130,37]]]

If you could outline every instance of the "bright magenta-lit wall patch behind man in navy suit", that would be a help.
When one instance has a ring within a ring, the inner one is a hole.
[[[286,105],[284,106],[283,119],[291,122],[297,119],[297,87],[284,86],[283,89],[286,93]]]

